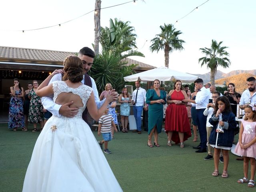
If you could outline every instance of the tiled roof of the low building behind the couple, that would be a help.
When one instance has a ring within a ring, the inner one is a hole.
[[[62,52],[31,48],[0,46],[0,68],[8,70],[44,70],[52,71],[62,68],[63,60],[75,52]],[[126,58],[128,64],[137,64],[134,70],[145,71],[155,68],[148,64]]]

